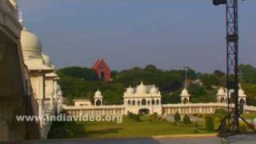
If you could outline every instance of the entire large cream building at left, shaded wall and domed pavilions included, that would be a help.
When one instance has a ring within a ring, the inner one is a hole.
[[[46,139],[52,122],[42,119],[62,110],[54,65],[18,11],[17,0],[0,0],[0,141]],[[19,115],[40,119],[17,122]]]

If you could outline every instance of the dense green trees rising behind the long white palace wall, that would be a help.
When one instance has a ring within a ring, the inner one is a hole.
[[[256,106],[256,68],[250,65],[239,66],[240,82],[245,90],[247,103]],[[102,82],[94,70],[82,67],[66,67],[58,70],[66,103],[74,98],[89,98],[93,101],[94,92],[101,90],[103,104],[122,104],[122,95],[128,86],[137,86],[141,80],[144,84],[154,84],[162,94],[162,103],[180,102],[181,90],[185,81],[185,70],[160,70],[156,66],[134,67],[130,70],[112,71],[113,81]],[[215,70],[212,74],[197,73],[188,70],[188,90],[192,95],[190,102],[216,102],[219,86],[225,86],[226,74]]]

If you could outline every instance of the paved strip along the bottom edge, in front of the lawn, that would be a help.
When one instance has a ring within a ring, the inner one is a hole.
[[[1,143],[1,142],[0,142]],[[227,139],[216,136],[199,136],[199,137],[155,137],[155,138],[120,138],[120,139],[69,139],[69,140],[47,140],[47,141],[27,141],[18,143],[28,144],[255,144],[256,134],[254,135],[236,135]]]

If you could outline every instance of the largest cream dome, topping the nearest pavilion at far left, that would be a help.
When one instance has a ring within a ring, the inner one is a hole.
[[[27,58],[42,58],[42,44],[38,36],[29,30],[22,30],[22,52]]]

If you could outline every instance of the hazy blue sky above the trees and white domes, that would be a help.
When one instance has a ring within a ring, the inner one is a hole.
[[[154,64],[225,70],[225,7],[211,0],[18,0],[26,27],[38,34],[58,68],[112,70]],[[256,1],[239,2],[240,63],[256,66]]]

